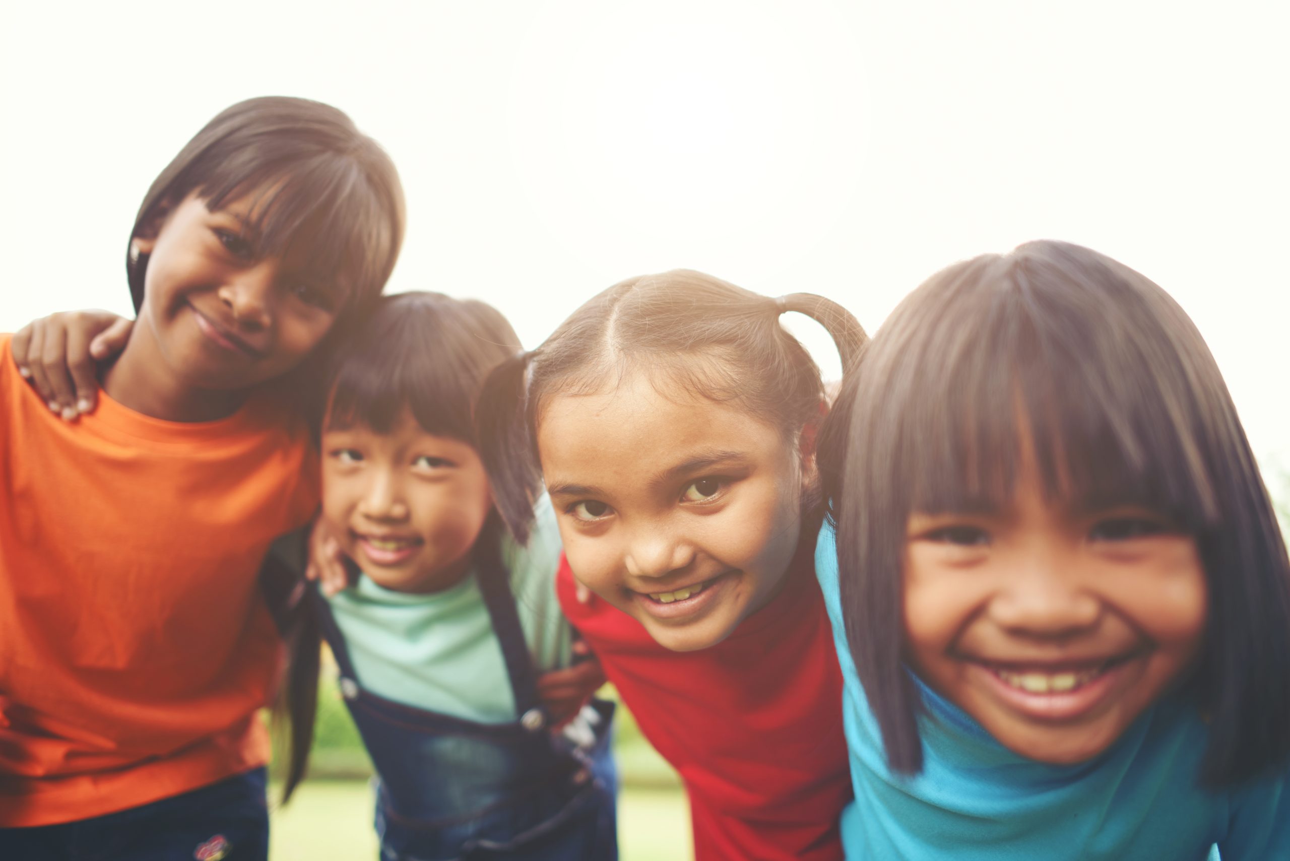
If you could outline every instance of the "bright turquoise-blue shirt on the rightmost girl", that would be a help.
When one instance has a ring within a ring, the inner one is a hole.
[[[1077,766],[1026,759],[918,682],[924,766],[886,767],[882,736],[846,646],[837,548],[827,523],[815,572],[842,668],[855,800],[842,813],[850,861],[1269,861],[1290,858],[1290,769],[1206,791],[1197,786],[1207,731],[1195,706],[1153,705],[1100,757]],[[1285,684],[1286,681],[1280,681]]]

